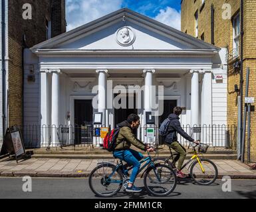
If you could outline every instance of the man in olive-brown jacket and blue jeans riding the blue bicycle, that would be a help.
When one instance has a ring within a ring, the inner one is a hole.
[[[134,135],[134,130],[140,126],[140,117],[136,114],[130,114],[126,121],[118,124],[120,131],[116,138],[116,147],[114,148],[113,155],[120,160],[124,160],[129,166],[133,166],[132,174],[126,187],[127,192],[140,192],[142,189],[134,185],[134,181],[140,170],[140,160],[144,157],[143,154],[130,149],[131,144],[140,148],[141,150],[152,152],[154,148],[146,146]]]

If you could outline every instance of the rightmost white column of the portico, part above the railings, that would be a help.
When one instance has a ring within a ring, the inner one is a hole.
[[[212,72],[203,70],[203,85],[201,93],[201,125],[212,124]]]

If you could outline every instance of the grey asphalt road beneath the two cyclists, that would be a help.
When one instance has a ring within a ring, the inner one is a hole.
[[[88,186],[88,178],[33,178],[32,191],[24,192],[22,178],[0,178],[0,198],[38,198],[38,199],[66,199],[66,198],[97,198]],[[137,180],[136,185],[143,187],[142,180]],[[170,199],[256,199],[256,180],[232,180],[231,192],[223,192],[221,187],[223,182],[217,180],[215,184],[209,186],[195,185],[193,182],[181,182],[177,185]],[[146,191],[139,194],[127,194],[120,192],[114,198],[138,198],[148,199],[150,197]],[[163,197],[162,197],[163,198]]]

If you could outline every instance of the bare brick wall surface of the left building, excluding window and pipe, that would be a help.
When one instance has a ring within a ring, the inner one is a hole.
[[[22,8],[25,3],[29,3],[32,6],[31,20],[24,20],[22,18]],[[51,20],[51,18],[53,36],[65,32],[64,5],[64,0],[9,0],[9,127],[13,125],[23,125],[23,35],[25,35],[26,38],[27,48],[31,48],[35,44],[45,41],[47,34],[45,20]]]

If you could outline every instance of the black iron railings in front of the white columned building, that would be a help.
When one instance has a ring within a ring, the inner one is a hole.
[[[47,148],[63,146],[102,146],[102,138],[95,136],[94,126],[29,125],[20,127],[26,148]],[[182,126],[182,129],[195,140],[215,147],[235,148],[237,145],[237,127],[235,125],[199,125]],[[162,144],[158,127],[140,127],[137,137],[147,144]],[[188,140],[178,134],[178,141],[187,146]]]

